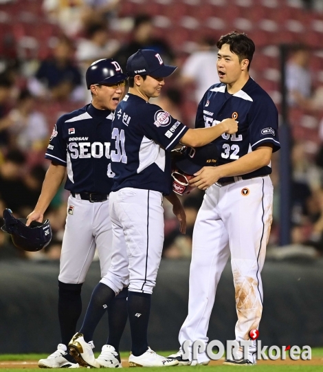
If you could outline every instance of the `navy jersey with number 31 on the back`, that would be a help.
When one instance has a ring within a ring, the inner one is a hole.
[[[186,131],[159,106],[127,94],[112,122],[112,191],[133,187],[170,194],[170,151]]]

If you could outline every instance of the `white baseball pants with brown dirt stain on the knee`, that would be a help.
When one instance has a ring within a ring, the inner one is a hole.
[[[272,221],[273,186],[269,176],[234,177],[226,186],[210,186],[197,215],[192,242],[188,316],[179,331],[179,343],[208,342],[208,326],[216,287],[231,254],[234,277],[236,340],[249,340],[258,329],[263,311],[260,272]],[[254,361],[256,342],[249,348]],[[198,362],[209,360],[199,354]]]

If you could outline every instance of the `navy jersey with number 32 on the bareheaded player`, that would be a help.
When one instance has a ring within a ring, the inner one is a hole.
[[[216,138],[219,165],[238,160],[258,146],[272,144],[273,152],[280,149],[278,140],[278,111],[269,95],[252,78],[236,94],[228,94],[223,83],[212,85],[204,94],[197,109],[196,128],[211,127],[223,119],[238,122],[238,131]],[[243,178],[269,175],[270,166],[263,166]],[[219,179],[227,182],[232,177]]]

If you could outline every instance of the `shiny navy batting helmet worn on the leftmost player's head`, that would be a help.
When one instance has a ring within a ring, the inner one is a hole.
[[[126,80],[128,76],[122,72],[122,68],[117,61],[109,58],[93,62],[87,69],[85,78],[87,89],[90,89],[92,84],[115,84]]]

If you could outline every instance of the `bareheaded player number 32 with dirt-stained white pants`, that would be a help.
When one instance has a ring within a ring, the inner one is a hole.
[[[203,96],[196,127],[217,126],[223,118],[234,118],[238,131],[214,141],[219,166],[203,167],[190,180],[206,190],[197,215],[192,242],[188,316],[179,331],[179,343],[206,336],[216,287],[231,254],[234,277],[236,341],[250,340],[258,329],[263,311],[260,272],[272,219],[273,186],[271,153],[280,149],[278,111],[268,94],[249,76],[255,46],[245,34],[221,36],[217,71],[221,83]],[[248,358],[239,349],[225,364],[255,364],[256,342]],[[184,360],[182,349],[172,358],[179,364],[208,364],[205,353],[198,360]],[[192,358],[191,358],[192,359]]]

